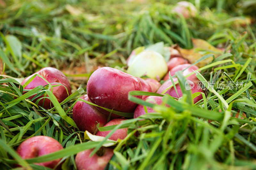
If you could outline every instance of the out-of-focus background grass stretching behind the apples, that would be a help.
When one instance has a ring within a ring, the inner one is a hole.
[[[224,47],[230,34],[246,31],[254,43],[256,1],[193,0],[199,14],[186,20],[171,12],[177,2],[0,0],[0,57],[10,61],[5,74],[23,77],[52,66],[86,76],[98,65],[124,66],[138,46],[164,41],[191,48],[191,37]]]

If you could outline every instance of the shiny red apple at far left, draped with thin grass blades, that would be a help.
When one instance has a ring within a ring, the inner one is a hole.
[[[20,84],[24,85],[32,76],[35,74],[39,74],[44,77],[49,83],[53,85],[62,85],[56,86],[52,88],[53,95],[57,98],[58,102],[62,102],[71,94],[71,86],[69,84],[68,78],[58,69],[52,67],[44,67],[38,72],[28,76],[25,78]],[[45,86],[48,83],[39,76],[36,76],[24,89],[34,89],[37,86]],[[66,89],[67,88],[67,89]],[[68,92],[67,92],[68,91]],[[29,99],[32,99],[34,96],[30,96]],[[33,102],[36,102],[39,98],[44,97],[44,95],[37,97]],[[44,107],[45,109],[50,109],[53,107],[52,102],[48,98],[41,99],[38,105]]]

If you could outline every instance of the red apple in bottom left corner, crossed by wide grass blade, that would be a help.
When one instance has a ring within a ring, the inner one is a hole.
[[[62,145],[54,138],[48,136],[35,136],[28,138],[17,148],[18,154],[22,159],[35,158],[42,155],[47,155],[63,149]],[[35,163],[36,165],[54,168],[61,159],[52,160],[49,162]]]

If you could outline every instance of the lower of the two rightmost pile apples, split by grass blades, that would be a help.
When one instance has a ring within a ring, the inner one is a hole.
[[[178,81],[178,79],[176,77],[174,77],[173,81],[176,82],[176,81]],[[171,80],[165,81],[164,84],[162,84],[162,86],[160,86],[160,88],[157,90],[156,93],[161,94],[165,89],[167,89],[171,85],[172,85],[172,81]],[[192,94],[196,93],[196,92],[203,92],[202,88],[197,83],[195,83],[195,82],[193,82],[191,80],[187,80],[186,81],[186,88],[187,87],[189,87],[189,89],[191,89]],[[177,95],[177,93],[176,93],[176,91],[175,91],[175,89],[173,87],[171,89],[168,89],[164,94],[169,94],[172,97],[179,98],[179,97],[181,97],[183,95],[182,91],[180,89],[180,85],[179,84],[176,84],[176,89],[177,89],[177,92],[178,92],[179,96]],[[201,99],[203,99],[202,94],[200,94],[199,96],[194,98],[194,103],[198,102]]]

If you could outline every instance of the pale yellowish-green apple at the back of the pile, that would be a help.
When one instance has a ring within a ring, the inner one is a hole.
[[[167,72],[164,57],[155,51],[143,51],[136,55],[127,73],[136,77],[147,75],[149,78],[161,79]]]

